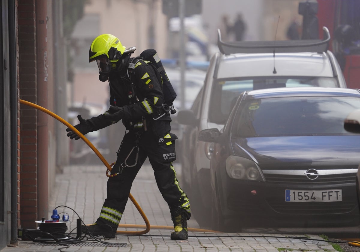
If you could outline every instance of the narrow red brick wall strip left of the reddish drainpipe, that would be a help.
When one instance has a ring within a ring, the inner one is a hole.
[[[35,0],[18,0],[19,94],[37,103]],[[37,110],[20,105],[20,226],[36,228],[37,220]]]

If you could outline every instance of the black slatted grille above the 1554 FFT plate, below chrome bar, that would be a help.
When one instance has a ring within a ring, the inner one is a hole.
[[[308,184],[333,184],[333,183],[355,183],[356,174],[334,174],[334,175],[321,175],[315,180],[308,179],[303,176],[289,176],[281,174],[264,174],[267,182],[281,183],[281,184],[294,184],[294,183],[308,183]]]

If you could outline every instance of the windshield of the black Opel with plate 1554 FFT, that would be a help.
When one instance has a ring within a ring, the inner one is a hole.
[[[346,116],[360,108],[355,97],[309,96],[245,100],[232,126],[234,137],[343,135]]]

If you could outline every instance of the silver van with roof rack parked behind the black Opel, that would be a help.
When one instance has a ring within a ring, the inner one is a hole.
[[[219,32],[220,51],[213,55],[204,87],[191,109],[178,112],[184,127],[182,177],[192,198],[199,225],[211,218],[210,148],[199,141],[201,130],[221,129],[237,97],[244,91],[274,87],[346,87],[334,55],[324,40],[238,41],[225,43]]]

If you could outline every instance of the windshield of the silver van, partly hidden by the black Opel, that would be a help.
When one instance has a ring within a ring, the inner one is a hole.
[[[209,119],[210,122],[224,124],[238,96],[244,91],[274,87],[337,87],[335,78],[330,77],[254,77],[215,80]]]

